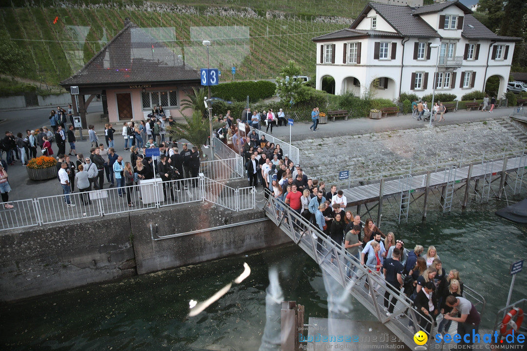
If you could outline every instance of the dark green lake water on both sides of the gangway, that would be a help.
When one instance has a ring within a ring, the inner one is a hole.
[[[396,225],[385,218],[382,223],[385,233],[392,230],[408,248],[435,245],[443,267],[460,270],[463,282],[486,298],[482,327],[489,329],[506,302],[509,266],[527,250],[527,228],[495,216],[494,207],[432,214],[426,222]],[[216,293],[241,274],[243,262],[251,275],[200,315],[187,318],[189,301]],[[306,323],[308,316],[327,317],[319,267],[298,247],[287,245],[4,305],[0,345],[14,350],[257,350],[266,324],[270,266],[276,268],[284,299],[306,306]],[[526,297],[520,289],[526,283],[522,272],[513,301]],[[344,307],[348,318],[374,319],[353,298]]]

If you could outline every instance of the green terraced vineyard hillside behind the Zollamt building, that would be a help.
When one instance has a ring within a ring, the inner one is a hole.
[[[310,16],[250,18],[118,8],[4,7],[0,8],[0,30],[23,48],[26,55],[21,60],[34,67],[24,78],[57,84],[108,43],[123,28],[125,17],[148,28],[157,41],[197,68],[207,65],[201,42],[210,39],[210,65],[221,69],[222,81],[232,79],[233,65],[236,79],[274,78],[288,59],[313,76],[316,48],[311,38],[345,27],[315,22]]]

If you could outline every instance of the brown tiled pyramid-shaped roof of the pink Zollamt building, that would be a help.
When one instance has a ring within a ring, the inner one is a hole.
[[[153,49],[152,49],[153,46]],[[133,23],[127,24],[64,87],[129,83],[199,81],[199,72],[184,65],[171,49]]]

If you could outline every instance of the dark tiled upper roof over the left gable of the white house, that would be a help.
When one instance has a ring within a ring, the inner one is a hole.
[[[441,36],[437,34],[437,31],[435,31],[435,29],[426,23],[421,17],[413,16],[413,8],[409,6],[369,3],[350,28],[356,28],[359,22],[372,8],[375,9],[379,16],[383,17],[401,36],[441,38]]]

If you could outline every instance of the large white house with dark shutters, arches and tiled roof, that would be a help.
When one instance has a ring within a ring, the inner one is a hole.
[[[349,28],[313,41],[317,89],[331,76],[335,94],[396,99],[404,92],[431,94],[435,81],[436,92],[460,99],[484,90],[491,76],[500,78],[502,96],[521,38],[494,34],[453,1],[421,7],[369,3]]]

